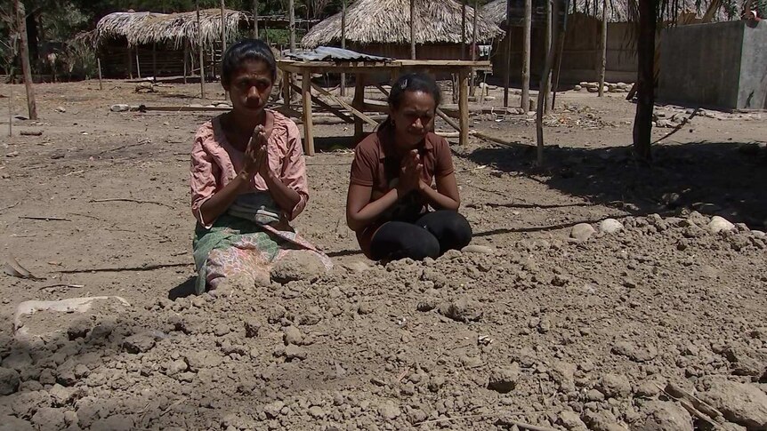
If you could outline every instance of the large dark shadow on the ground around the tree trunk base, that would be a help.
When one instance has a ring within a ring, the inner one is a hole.
[[[650,166],[636,163],[626,147],[546,148],[543,168],[535,166],[534,149],[480,148],[459,156],[632,214],[688,208],[756,229],[767,223],[767,156],[755,143],[658,145]]]

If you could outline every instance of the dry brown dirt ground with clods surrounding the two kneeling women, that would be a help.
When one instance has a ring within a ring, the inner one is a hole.
[[[345,226],[351,151],[320,151],[296,227],[332,272],[194,296],[189,151],[215,114],[110,112],[203,103],[134,86],[37,85],[40,120],[10,138],[2,116],[4,259],[38,279],[0,274],[0,429],[767,429],[763,114],[700,113],[643,166],[625,94],[560,93],[543,166],[453,146],[480,247],[385,267]],[[533,118],[472,125],[532,144]],[[353,131],[316,129],[319,148]],[[93,296],[125,302],[14,323],[22,301]]]

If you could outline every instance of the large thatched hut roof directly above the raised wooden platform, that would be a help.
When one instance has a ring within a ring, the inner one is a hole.
[[[460,44],[462,5],[455,0],[416,0],[416,44]],[[466,6],[466,41],[472,40],[474,10]],[[479,42],[503,36],[497,25],[477,16]],[[409,44],[409,0],[357,0],[346,10],[346,40],[358,44]],[[341,13],[311,28],[304,48],[339,44]]]

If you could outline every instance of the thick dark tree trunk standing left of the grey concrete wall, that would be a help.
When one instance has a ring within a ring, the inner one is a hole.
[[[652,108],[655,103],[655,61],[656,10],[653,0],[639,0],[639,41],[637,60],[636,116],[634,117],[634,155],[650,162],[650,138],[652,134]]]

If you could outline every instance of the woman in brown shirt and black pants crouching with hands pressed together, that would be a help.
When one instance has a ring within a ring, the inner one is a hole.
[[[448,141],[432,132],[440,99],[432,77],[400,76],[389,118],[355,148],[346,221],[370,259],[437,258],[472,240]]]

